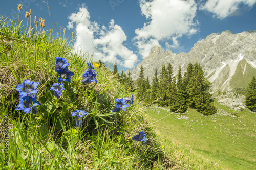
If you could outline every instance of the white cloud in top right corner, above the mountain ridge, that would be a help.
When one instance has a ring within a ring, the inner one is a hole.
[[[210,11],[215,17],[223,19],[235,13],[239,5],[252,7],[255,3],[256,0],[208,0],[200,9]]]

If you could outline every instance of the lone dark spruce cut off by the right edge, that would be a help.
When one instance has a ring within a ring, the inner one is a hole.
[[[252,110],[256,111],[256,78],[253,76],[251,82],[249,83],[249,87],[246,89],[246,106]]]

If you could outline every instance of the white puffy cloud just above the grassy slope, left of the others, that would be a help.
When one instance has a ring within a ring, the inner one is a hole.
[[[114,20],[108,26],[100,26],[90,20],[90,13],[83,4],[77,13],[68,19],[68,29],[75,29],[74,50],[86,53],[94,52],[94,59],[103,62],[116,62],[127,68],[134,68],[137,55],[123,45],[127,37],[122,28]]]

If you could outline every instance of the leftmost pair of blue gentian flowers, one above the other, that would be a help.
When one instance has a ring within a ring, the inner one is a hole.
[[[19,92],[19,104],[16,106],[16,110],[23,110],[25,113],[37,114],[37,105],[41,105],[36,101],[37,98],[37,86],[39,82],[33,82],[25,80],[22,84],[19,84],[15,89]]]

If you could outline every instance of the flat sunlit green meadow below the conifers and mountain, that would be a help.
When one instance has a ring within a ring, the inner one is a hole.
[[[203,116],[194,109],[184,114],[171,114],[154,123],[154,128],[171,141],[178,141],[197,151],[208,161],[227,169],[256,169],[255,129],[256,114],[248,109],[231,116],[233,110],[214,102],[218,113]],[[148,107],[149,122],[165,117],[170,112],[155,106]],[[178,119],[186,116],[189,119]]]

